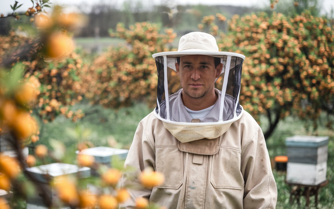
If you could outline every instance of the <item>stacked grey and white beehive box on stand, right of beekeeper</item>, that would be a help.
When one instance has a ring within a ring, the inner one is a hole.
[[[287,137],[287,182],[318,185],[326,181],[328,136]]]

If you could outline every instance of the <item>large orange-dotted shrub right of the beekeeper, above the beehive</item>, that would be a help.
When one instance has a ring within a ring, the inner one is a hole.
[[[230,32],[218,46],[246,56],[240,103],[259,119],[278,121],[293,114],[314,121],[320,112],[334,113],[334,30],[328,20],[302,13],[233,16]]]

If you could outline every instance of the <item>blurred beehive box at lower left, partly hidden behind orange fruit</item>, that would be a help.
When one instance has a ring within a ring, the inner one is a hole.
[[[91,176],[91,169],[88,167],[78,167],[77,165],[67,163],[51,163],[47,165],[41,165],[26,169],[27,172],[31,173],[38,183],[49,185],[50,182],[57,183],[57,178],[61,176],[75,176],[78,178],[87,178]],[[58,205],[59,200],[57,199],[56,193],[49,186],[47,187],[50,192],[51,201]],[[45,206],[42,195],[42,191],[36,191],[34,197],[27,198],[27,204],[30,208]],[[65,206],[59,206],[63,208]],[[28,208],[28,206],[27,206]],[[65,207],[66,208],[66,207]]]

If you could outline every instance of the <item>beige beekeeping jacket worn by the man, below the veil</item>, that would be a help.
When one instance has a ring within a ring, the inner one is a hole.
[[[203,146],[206,148],[198,148]],[[120,208],[134,208],[137,197],[171,209],[276,206],[277,187],[265,139],[245,111],[218,139],[197,140],[182,147],[151,113],[139,123],[125,167],[138,172],[153,167],[164,174],[165,182],[152,190],[129,190],[131,198]],[[121,182],[122,186],[140,184],[127,176]]]

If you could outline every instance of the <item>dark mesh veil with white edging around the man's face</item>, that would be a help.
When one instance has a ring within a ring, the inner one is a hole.
[[[187,101],[182,94],[200,97],[202,92],[212,92],[213,88],[217,100],[200,121],[223,123],[238,118],[242,111],[239,105],[242,55],[220,52],[219,55],[162,54],[154,58],[158,74],[155,112],[161,119],[172,123],[190,123],[193,116],[191,110],[184,109],[183,103]]]

